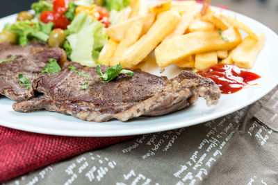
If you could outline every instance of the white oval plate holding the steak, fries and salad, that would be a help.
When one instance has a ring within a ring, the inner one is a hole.
[[[14,102],[12,100],[1,97],[0,125],[17,130],[64,136],[126,136],[160,132],[204,123],[254,103],[268,94],[278,84],[278,36],[270,28],[254,19],[229,10],[223,10],[223,13],[243,21],[256,33],[265,33],[265,47],[251,70],[262,76],[259,80],[254,81],[258,85],[243,89],[236,94],[222,95],[220,103],[212,107],[207,107],[205,101],[200,99],[195,105],[179,112],[152,118],[141,117],[128,122],[86,122],[73,116],[47,111],[19,113],[13,111],[12,105]],[[3,28],[4,24],[14,22],[15,18],[16,15],[10,15],[0,19],[0,29]],[[159,69],[152,66],[151,63],[143,65],[142,69],[159,75]],[[171,66],[167,68],[163,75],[172,77],[178,72],[177,67]]]

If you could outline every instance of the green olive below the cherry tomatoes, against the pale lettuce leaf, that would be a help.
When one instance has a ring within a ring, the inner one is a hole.
[[[57,28],[51,31],[48,39],[48,44],[51,47],[62,47],[65,42],[65,31]]]

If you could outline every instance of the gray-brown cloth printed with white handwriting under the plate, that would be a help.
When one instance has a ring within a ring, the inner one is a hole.
[[[258,116],[277,91],[222,118],[144,134],[6,184],[278,184],[278,133],[269,128],[278,122],[267,127]]]

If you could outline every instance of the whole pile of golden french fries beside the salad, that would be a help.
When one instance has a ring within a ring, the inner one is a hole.
[[[234,17],[209,8],[201,11],[195,1],[133,0],[119,24],[107,28],[110,37],[99,63],[134,69],[154,51],[158,67],[176,64],[193,71],[218,63],[250,69],[265,44],[265,35]],[[243,39],[239,30],[247,33]]]

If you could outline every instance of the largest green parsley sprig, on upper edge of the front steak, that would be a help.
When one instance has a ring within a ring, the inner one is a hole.
[[[110,82],[111,80],[116,78],[118,75],[120,75],[120,73],[125,73],[129,76],[134,75],[133,71],[122,69],[122,65],[120,63],[115,65],[114,67],[109,67],[104,73],[101,72],[100,67],[101,66],[99,65],[99,67],[96,69],[96,71],[100,76],[99,78],[104,80],[104,82]]]

